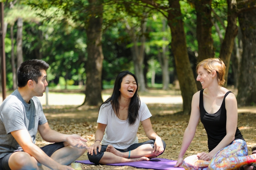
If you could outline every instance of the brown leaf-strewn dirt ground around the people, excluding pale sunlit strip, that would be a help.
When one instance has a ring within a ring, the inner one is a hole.
[[[166,142],[166,150],[160,155],[160,158],[168,158],[177,160],[184,130],[188,124],[189,116],[182,115],[181,104],[147,104],[150,112],[152,113],[151,122],[155,132]],[[247,109],[247,110],[246,110]],[[78,110],[74,106],[51,106],[44,107],[44,113],[48,119],[49,125],[52,129],[65,133],[65,134],[79,134],[88,140],[90,146],[94,142],[94,133],[97,128],[98,108],[90,107],[85,110]],[[243,110],[242,110],[243,111]],[[250,112],[251,111],[251,112]],[[251,148],[256,145],[256,126],[255,119],[256,114],[253,109],[245,108],[244,113],[238,114],[238,128],[240,129],[244,139],[247,142],[249,154],[251,154]],[[142,128],[139,126],[138,130],[139,142],[146,141],[148,138]],[[37,135],[36,144],[38,146],[44,146],[47,142],[44,142],[41,136]],[[199,152],[208,152],[207,148],[207,135],[201,122],[197,126],[196,135],[189,146],[184,158]],[[81,156],[78,160],[85,160],[87,153]],[[114,167],[106,165],[82,165],[83,169],[135,169],[129,166]]]

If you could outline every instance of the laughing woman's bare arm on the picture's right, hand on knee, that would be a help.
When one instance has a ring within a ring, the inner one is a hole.
[[[160,155],[163,151],[163,142],[162,139],[156,134],[156,132],[152,129],[152,124],[150,121],[150,118],[147,118],[146,120],[143,120],[142,122],[143,129],[148,137],[148,139],[154,139],[154,151],[155,155]]]

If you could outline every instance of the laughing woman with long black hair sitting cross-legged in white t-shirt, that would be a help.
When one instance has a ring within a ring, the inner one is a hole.
[[[90,162],[137,162],[162,154],[166,144],[152,129],[151,116],[146,104],[140,101],[136,76],[129,71],[120,72],[113,94],[99,108],[95,142],[87,153]],[[142,143],[138,143],[137,137],[140,122],[150,139]]]

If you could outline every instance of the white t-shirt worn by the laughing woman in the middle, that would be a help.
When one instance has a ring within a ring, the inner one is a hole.
[[[141,102],[139,116],[133,125],[128,120],[120,120],[114,113],[112,105],[107,103],[100,107],[97,123],[106,124],[102,145],[112,145],[117,149],[127,149],[134,143],[138,143],[137,131],[140,122],[152,115],[144,102]]]

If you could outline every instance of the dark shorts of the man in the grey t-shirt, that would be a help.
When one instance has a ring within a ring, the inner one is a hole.
[[[44,147],[41,147],[41,149],[44,151],[44,153],[46,153],[46,155],[51,157],[55,151],[63,147],[64,147],[63,142],[58,142],[58,143],[52,143]],[[12,153],[9,153],[8,155],[5,155],[4,157],[0,158],[0,170],[11,170],[11,168],[9,167],[8,161]]]

